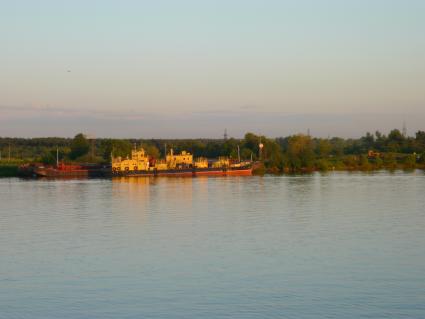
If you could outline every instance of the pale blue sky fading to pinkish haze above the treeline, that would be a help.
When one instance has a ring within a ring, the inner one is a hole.
[[[0,136],[425,130],[422,0],[0,0]]]

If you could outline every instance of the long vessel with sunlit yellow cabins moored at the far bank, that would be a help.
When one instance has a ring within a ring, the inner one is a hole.
[[[134,148],[131,158],[112,157],[112,176],[202,176],[202,175],[252,175],[251,161],[234,161],[220,157],[212,161],[193,158],[189,152],[174,154],[173,149],[165,159],[156,160],[143,148]]]

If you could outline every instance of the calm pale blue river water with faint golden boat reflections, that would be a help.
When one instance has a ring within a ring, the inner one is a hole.
[[[425,174],[0,179],[0,318],[424,318]]]

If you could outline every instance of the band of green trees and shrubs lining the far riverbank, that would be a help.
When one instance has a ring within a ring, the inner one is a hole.
[[[24,162],[107,163],[111,155],[128,156],[134,145],[142,145],[155,158],[173,148],[195,157],[253,159],[261,162],[259,173],[425,167],[424,131],[405,136],[394,129],[387,135],[366,133],[358,139],[303,134],[267,138],[253,133],[243,139],[88,139],[77,134],[74,138],[0,138],[0,175],[13,175]]]

